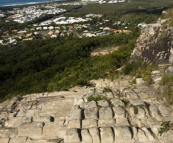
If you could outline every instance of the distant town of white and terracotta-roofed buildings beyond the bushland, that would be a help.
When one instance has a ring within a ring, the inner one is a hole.
[[[125,0],[103,1],[92,0],[90,2],[97,3],[121,3]],[[88,0],[74,3],[61,3],[59,5],[86,5]],[[63,15],[66,9],[58,8],[57,5],[32,5],[25,6],[23,8],[13,8],[13,10],[0,11],[0,17],[5,18],[5,22],[17,22],[19,24],[31,22],[36,18],[40,18],[43,15],[56,15],[56,18],[51,18],[39,23],[34,23],[29,28],[13,29],[3,31],[0,29],[0,44],[17,44],[19,41],[28,41],[33,39],[46,39],[57,37],[96,37],[105,36],[111,33],[130,33],[128,26],[130,23],[124,23],[117,21],[112,25],[119,25],[121,29],[114,29],[108,26],[109,20],[102,19],[101,22],[97,22],[95,25],[90,22],[93,18],[101,18],[102,14],[88,13],[84,17],[66,17]]]

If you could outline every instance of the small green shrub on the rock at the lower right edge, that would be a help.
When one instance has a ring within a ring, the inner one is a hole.
[[[167,132],[172,129],[173,129],[173,123],[171,123],[171,121],[163,121],[158,133],[161,136],[164,132]]]

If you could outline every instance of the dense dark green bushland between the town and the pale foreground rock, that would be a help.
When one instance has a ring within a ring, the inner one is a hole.
[[[83,39],[47,39],[22,42],[0,51],[0,95],[64,90],[107,77],[129,58],[138,34]],[[90,57],[96,48],[120,45],[105,56]],[[7,47],[6,47],[7,48]]]

